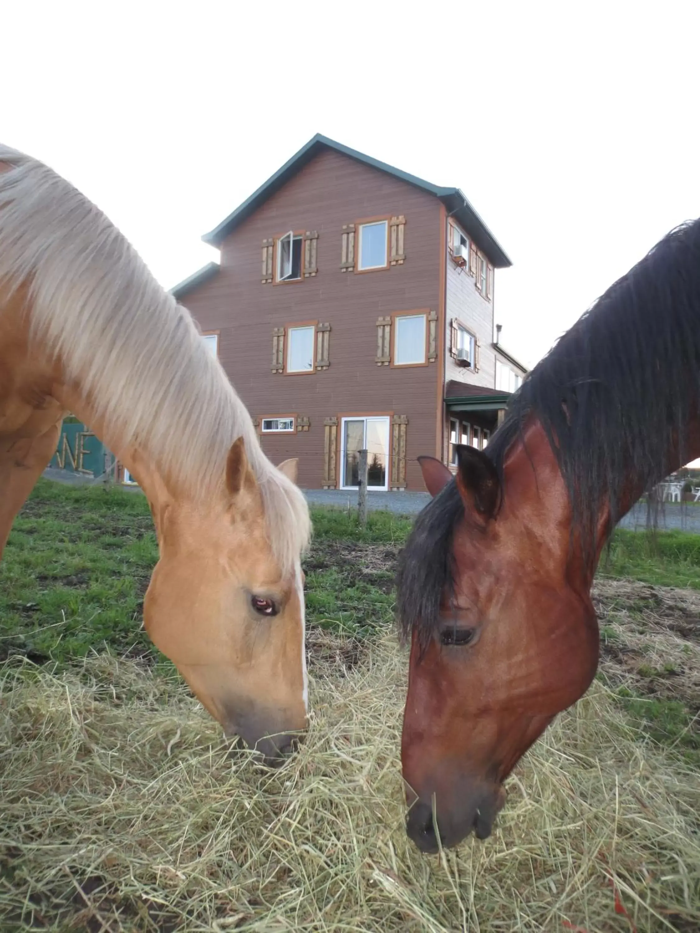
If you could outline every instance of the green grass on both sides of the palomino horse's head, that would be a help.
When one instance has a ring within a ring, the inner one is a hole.
[[[312,515],[310,623],[362,637],[389,625],[393,563],[411,521],[371,512],[360,528],[347,510]],[[39,480],[0,562],[0,660],[64,663],[105,650],[159,658],[141,624],[157,560],[145,496]]]

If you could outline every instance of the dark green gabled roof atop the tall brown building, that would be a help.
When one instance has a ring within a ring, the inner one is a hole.
[[[476,213],[459,188],[441,188],[439,185],[433,185],[423,178],[418,178],[416,175],[408,174],[407,172],[401,172],[400,169],[394,168],[393,165],[388,165],[386,162],[380,162],[379,160],[372,159],[371,156],[364,155],[362,152],[357,152],[357,149],[351,149],[348,146],[343,146],[341,143],[336,143],[334,140],[329,139],[328,136],[322,136],[318,132],[305,146],[301,146],[299,152],[285,162],[282,168],[278,169],[268,178],[264,185],[261,185],[249,198],[246,198],[242,204],[239,204],[232,214],[226,217],[225,220],[222,220],[214,230],[205,233],[202,238],[204,243],[208,243],[212,246],[220,245],[232,230],[235,230],[247,217],[257,211],[261,204],[272,197],[283,185],[286,185],[290,178],[297,174],[304,165],[314,159],[323,149],[332,149],[335,152],[340,152],[349,159],[354,159],[380,172],[393,175],[395,178],[399,178],[400,181],[404,181],[408,185],[413,185],[414,188],[420,188],[423,191],[427,191],[428,194],[434,195],[445,205],[448,214],[454,216],[470,236],[473,237],[474,243],[483,250],[489,259],[491,259],[497,269],[503,269],[512,265],[511,260],[506,256],[503,248],[497,243],[496,237],[491,230],[486,227],[482,218]]]

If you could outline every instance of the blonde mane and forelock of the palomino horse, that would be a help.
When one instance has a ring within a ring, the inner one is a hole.
[[[32,326],[110,432],[204,499],[222,483],[233,440],[259,481],[273,553],[288,571],[310,534],[301,491],[259,446],[248,411],[186,308],[76,188],[0,146],[0,281],[29,283]],[[0,312],[1,313],[1,312]]]

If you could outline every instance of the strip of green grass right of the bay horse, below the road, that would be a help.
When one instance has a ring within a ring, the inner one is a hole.
[[[700,589],[700,535],[684,531],[651,534],[619,528],[598,573],[654,586]]]

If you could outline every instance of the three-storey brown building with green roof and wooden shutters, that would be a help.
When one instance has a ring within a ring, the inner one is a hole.
[[[173,289],[273,462],[304,488],[424,489],[416,458],[482,446],[525,368],[494,341],[511,265],[464,194],[316,135],[203,240]]]

